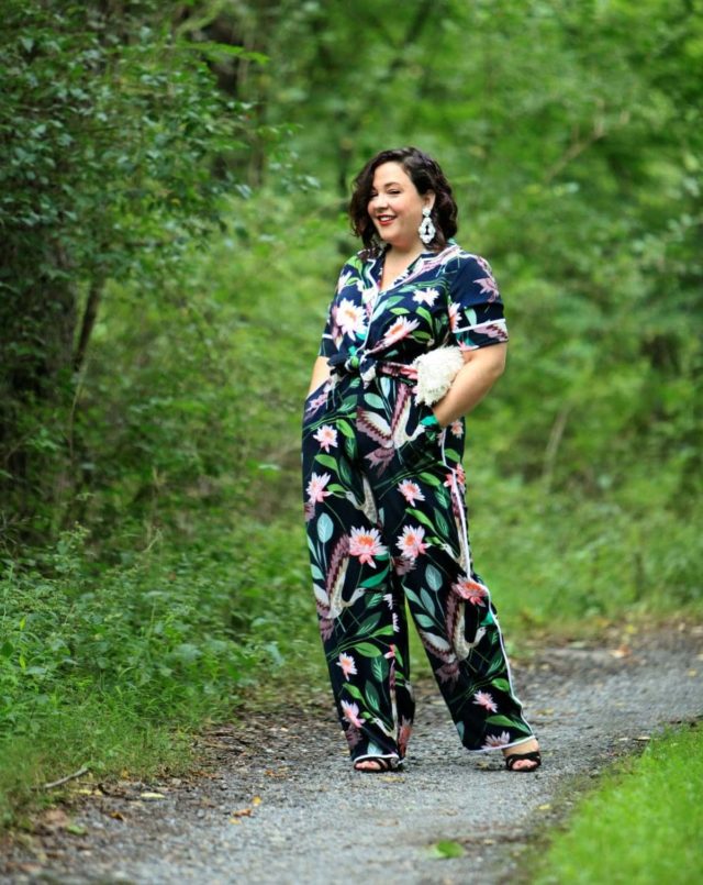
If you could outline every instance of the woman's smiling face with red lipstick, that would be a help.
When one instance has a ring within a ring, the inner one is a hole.
[[[400,163],[383,163],[373,173],[367,208],[381,240],[401,252],[414,252],[425,248],[417,228],[423,208],[432,208],[434,200],[432,191],[420,196]]]

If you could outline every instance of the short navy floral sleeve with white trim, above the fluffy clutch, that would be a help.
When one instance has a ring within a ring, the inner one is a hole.
[[[490,264],[464,253],[449,286],[449,321],[456,343],[468,350],[507,341],[503,301]]]

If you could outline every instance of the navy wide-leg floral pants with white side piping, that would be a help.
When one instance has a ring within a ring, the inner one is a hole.
[[[320,631],[352,757],[403,759],[414,715],[405,600],[464,745],[532,737],[473,571],[464,422],[416,434],[406,379],[358,375],[305,401],[303,491]]]

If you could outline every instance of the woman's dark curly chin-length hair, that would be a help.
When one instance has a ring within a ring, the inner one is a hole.
[[[369,253],[378,252],[375,237],[376,228],[369,215],[368,204],[373,189],[373,173],[383,163],[401,165],[421,196],[428,190],[434,191],[435,203],[432,207],[432,220],[437,233],[431,247],[439,252],[446,246],[447,240],[457,232],[457,204],[439,164],[417,147],[395,147],[390,151],[381,151],[369,159],[354,179],[354,193],[349,202],[352,230],[356,236],[361,237]]]

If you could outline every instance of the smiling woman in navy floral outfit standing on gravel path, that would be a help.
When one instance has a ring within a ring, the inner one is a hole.
[[[464,745],[534,771],[537,742],[473,571],[464,502],[464,416],[503,370],[502,301],[488,263],[451,240],[451,188],[421,151],[375,156],[349,212],[365,247],[339,275],[305,400],[303,488],[354,766],[389,771],[405,755],[408,600]]]

